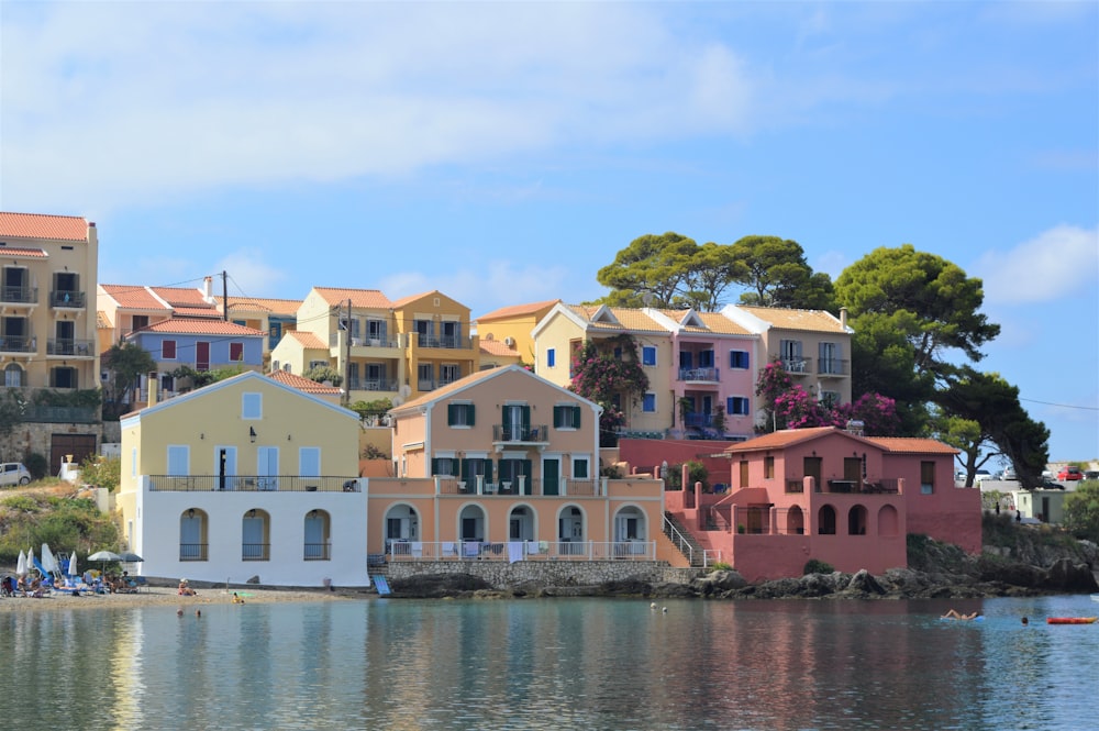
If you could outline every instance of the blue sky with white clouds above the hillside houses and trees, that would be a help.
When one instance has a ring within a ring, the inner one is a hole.
[[[0,209],[100,280],[474,317],[606,293],[646,233],[985,281],[981,367],[1099,458],[1095,2],[0,3]],[[735,299],[739,292],[732,292]]]

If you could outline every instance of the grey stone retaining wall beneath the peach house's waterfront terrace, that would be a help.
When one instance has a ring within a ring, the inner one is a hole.
[[[436,574],[468,574],[496,589],[515,586],[592,586],[608,582],[641,580],[648,584],[689,584],[698,568],[673,568],[663,561],[399,561],[386,575],[392,579]]]

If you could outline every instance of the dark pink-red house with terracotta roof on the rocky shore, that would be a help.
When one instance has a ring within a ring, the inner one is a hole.
[[[812,558],[880,574],[908,565],[908,533],[980,550],[980,492],[955,487],[955,453],[928,439],[779,431],[721,453],[724,491],[669,491],[666,505],[710,561],[750,582],[800,576]]]

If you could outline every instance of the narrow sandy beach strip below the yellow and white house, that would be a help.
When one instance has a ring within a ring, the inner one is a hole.
[[[126,609],[130,607],[171,607],[193,612],[208,605],[227,605],[233,602],[233,591],[249,603],[273,603],[278,601],[342,601],[351,599],[367,599],[374,595],[365,590],[337,589],[282,589],[262,587],[224,586],[202,587],[195,585],[196,596],[179,596],[177,587],[151,586],[133,594],[92,594],[80,591],[74,596],[63,591],[52,591],[45,597],[14,597],[0,599],[0,612],[42,611],[51,609]]]

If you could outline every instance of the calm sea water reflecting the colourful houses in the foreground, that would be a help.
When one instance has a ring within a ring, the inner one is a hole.
[[[1085,729],[1099,624],[1045,617],[1096,613],[1087,596],[27,608],[0,614],[0,728]]]

